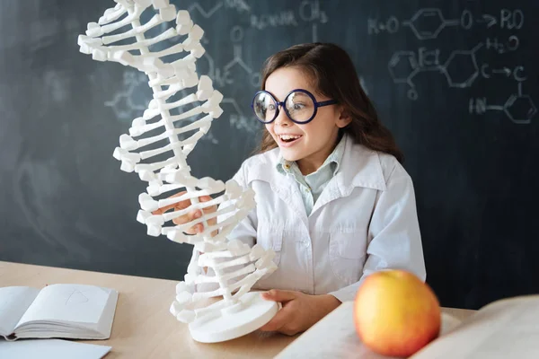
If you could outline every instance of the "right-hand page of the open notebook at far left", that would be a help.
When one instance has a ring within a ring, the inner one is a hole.
[[[49,285],[41,289],[17,327],[30,321],[63,321],[95,328],[112,292],[94,285]]]

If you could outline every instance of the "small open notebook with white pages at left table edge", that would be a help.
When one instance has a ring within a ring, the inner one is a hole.
[[[0,336],[107,339],[118,302],[114,289],[95,285],[0,288]]]

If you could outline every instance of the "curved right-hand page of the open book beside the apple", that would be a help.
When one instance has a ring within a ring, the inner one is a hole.
[[[493,302],[413,359],[539,358],[539,295]]]

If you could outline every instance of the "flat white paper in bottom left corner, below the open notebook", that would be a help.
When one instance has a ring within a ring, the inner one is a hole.
[[[76,343],[60,339],[0,340],[0,358],[10,359],[101,359],[110,346]]]

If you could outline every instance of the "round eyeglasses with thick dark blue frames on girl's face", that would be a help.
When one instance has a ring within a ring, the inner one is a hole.
[[[256,92],[252,99],[252,110],[261,123],[269,124],[278,117],[278,108],[285,109],[288,118],[296,124],[306,124],[315,116],[318,108],[336,104],[336,100],[316,101],[314,95],[303,89],[288,92],[285,101],[279,102],[270,92]]]

